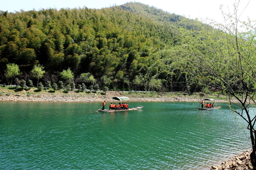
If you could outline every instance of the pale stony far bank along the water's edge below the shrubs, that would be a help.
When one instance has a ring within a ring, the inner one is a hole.
[[[127,92],[126,92],[127,93]],[[4,94],[0,96],[0,101],[19,101],[19,102],[112,102],[112,97],[127,96],[128,102],[198,102],[200,103],[202,98],[199,96],[189,95],[140,95],[140,94],[123,94],[123,92],[109,91],[107,94],[102,95],[100,93],[81,94],[76,92],[64,93],[39,93],[28,95],[27,91],[20,91],[19,93]],[[216,99],[215,102],[228,102],[223,99]]]

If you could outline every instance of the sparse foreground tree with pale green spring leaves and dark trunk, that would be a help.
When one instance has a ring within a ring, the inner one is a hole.
[[[234,14],[225,16],[230,24],[216,25],[221,29],[199,25],[203,31],[184,31],[186,38],[175,53],[183,56],[182,63],[190,63],[184,67],[198,81],[229,96],[230,109],[247,122],[253,149],[250,161],[256,170],[256,115],[249,113],[256,104],[256,27],[251,21],[239,21],[238,5],[234,4]]]

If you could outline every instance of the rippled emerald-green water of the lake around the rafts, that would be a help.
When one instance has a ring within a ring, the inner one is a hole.
[[[189,102],[129,105],[144,108],[0,102],[0,169],[204,170],[250,149],[244,122],[226,104],[211,111]]]

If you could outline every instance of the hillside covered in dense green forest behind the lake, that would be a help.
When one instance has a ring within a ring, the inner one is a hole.
[[[86,6],[86,4],[85,4]],[[200,91],[169,48],[194,20],[141,3],[111,8],[0,12],[0,84],[14,78],[120,90]],[[20,72],[9,74],[14,63]],[[35,75],[35,66],[44,75]],[[34,69],[34,74],[32,70]],[[70,73],[67,78],[64,73]],[[188,88],[190,87],[190,88]]]

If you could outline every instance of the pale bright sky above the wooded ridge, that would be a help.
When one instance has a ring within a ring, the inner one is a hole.
[[[0,11],[15,12],[29,10],[40,10],[41,8],[106,8],[113,5],[122,5],[128,2],[140,2],[149,6],[163,9],[170,13],[183,15],[185,17],[199,20],[206,18],[222,23],[220,6],[225,12],[233,11],[233,4],[239,0],[0,0]],[[246,7],[246,5],[249,5]],[[245,10],[244,10],[245,8]],[[241,0],[239,3],[239,14],[242,20],[256,20],[256,0]]]

